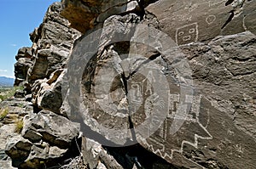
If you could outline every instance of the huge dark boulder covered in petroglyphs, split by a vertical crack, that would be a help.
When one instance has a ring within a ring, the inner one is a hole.
[[[67,74],[63,110],[85,137],[138,142],[169,163],[162,168],[253,168],[255,24],[247,17],[254,2],[150,3],[140,5],[142,15],[104,20],[88,50],[90,34],[79,39],[67,72],[84,72]]]

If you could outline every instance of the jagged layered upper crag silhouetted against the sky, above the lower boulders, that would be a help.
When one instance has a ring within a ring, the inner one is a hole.
[[[69,22],[61,17],[60,10],[60,3],[50,6],[43,23],[30,34],[32,47],[20,48],[16,56],[15,85],[26,82],[32,87],[36,80],[49,78],[55,70],[64,68],[80,33],[68,26]]]

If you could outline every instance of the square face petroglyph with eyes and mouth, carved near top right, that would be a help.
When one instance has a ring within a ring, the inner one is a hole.
[[[189,42],[196,42],[198,39],[198,25],[197,23],[183,25],[177,28],[176,42],[178,45],[186,44]]]

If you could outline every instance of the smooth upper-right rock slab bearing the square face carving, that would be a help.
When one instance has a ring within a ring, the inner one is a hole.
[[[247,20],[255,12],[254,7],[255,2],[243,0],[195,0],[189,3],[160,0],[150,4],[146,10],[158,18],[161,30],[180,45],[242,31],[255,32],[255,25]]]

